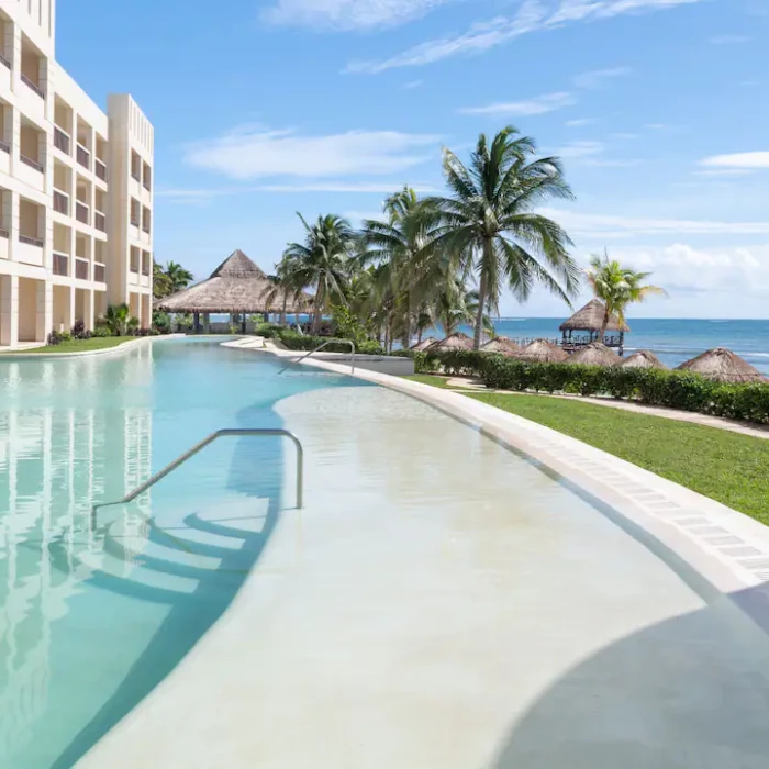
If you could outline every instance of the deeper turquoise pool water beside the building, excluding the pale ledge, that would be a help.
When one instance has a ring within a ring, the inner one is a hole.
[[[71,767],[232,600],[290,445],[220,441],[96,528],[90,508],[210,432],[281,426],[278,400],[350,381],[279,369],[204,341],[0,361],[0,767]]]

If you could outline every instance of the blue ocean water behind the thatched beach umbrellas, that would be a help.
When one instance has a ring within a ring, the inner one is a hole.
[[[564,319],[502,317],[494,323],[500,336],[512,339],[557,339]],[[691,321],[669,319],[628,319],[633,330],[625,334],[625,355],[638,349],[651,350],[666,366],[675,368],[713,347],[727,347],[769,375],[769,320]],[[471,328],[462,331],[472,334]],[[437,335],[438,332],[431,332]]]

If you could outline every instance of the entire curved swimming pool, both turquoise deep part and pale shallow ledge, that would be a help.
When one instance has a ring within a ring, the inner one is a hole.
[[[0,369],[0,766],[769,764],[766,633],[527,456],[204,342],[26,364]],[[91,527],[222,426],[297,434],[305,508],[290,446],[244,438]]]

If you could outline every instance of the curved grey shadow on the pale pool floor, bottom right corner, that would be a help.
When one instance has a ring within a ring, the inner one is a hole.
[[[732,597],[764,601],[762,589]],[[765,769],[769,636],[732,600],[647,627],[570,669],[514,725],[495,769]]]

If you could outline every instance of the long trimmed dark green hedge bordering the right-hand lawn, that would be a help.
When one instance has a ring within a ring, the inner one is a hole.
[[[612,395],[647,405],[769,424],[767,383],[724,384],[688,371],[527,364],[464,349],[434,354],[399,350],[397,355],[413,358],[417,374],[444,371],[478,377],[495,390]]]

